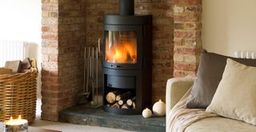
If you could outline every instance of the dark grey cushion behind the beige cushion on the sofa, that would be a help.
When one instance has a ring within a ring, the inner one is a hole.
[[[202,51],[201,60],[198,66],[197,77],[189,99],[186,102],[187,108],[206,109],[210,105],[218,83],[222,79],[222,74],[226,66],[226,58],[220,54]],[[248,66],[256,66],[256,60],[246,58],[232,58],[237,62]]]

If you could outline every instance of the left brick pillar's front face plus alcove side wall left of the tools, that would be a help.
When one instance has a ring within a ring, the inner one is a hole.
[[[57,121],[82,89],[86,3],[42,0],[42,119]]]

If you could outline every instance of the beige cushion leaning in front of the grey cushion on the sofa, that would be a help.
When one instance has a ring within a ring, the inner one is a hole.
[[[256,67],[230,58],[207,112],[256,125]]]

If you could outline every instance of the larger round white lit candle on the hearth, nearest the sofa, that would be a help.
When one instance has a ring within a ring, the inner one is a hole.
[[[158,102],[155,102],[153,106],[153,112],[157,116],[166,115],[166,103],[162,102],[161,99]]]

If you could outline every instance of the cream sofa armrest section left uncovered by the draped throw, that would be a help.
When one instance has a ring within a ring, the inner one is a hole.
[[[166,84],[166,114],[194,83],[194,78],[170,78]]]

